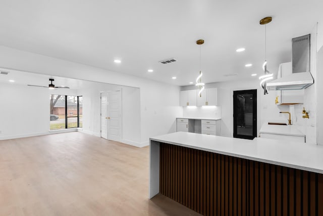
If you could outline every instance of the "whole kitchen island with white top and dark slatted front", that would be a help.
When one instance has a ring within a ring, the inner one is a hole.
[[[150,138],[149,198],[203,215],[323,215],[323,146],[177,132]]]

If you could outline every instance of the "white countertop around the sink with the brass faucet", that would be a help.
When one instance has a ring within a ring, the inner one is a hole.
[[[268,122],[262,124],[259,133],[305,137],[305,135],[301,133],[295,125],[275,125],[268,124]]]

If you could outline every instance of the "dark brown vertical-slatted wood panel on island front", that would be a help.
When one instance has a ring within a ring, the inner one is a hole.
[[[323,215],[315,172],[164,143],[159,171],[159,192],[203,215]]]

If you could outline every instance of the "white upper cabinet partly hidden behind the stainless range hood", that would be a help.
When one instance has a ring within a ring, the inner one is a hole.
[[[292,63],[286,62],[279,65],[277,78],[292,75]],[[304,90],[278,90],[277,105],[302,104],[304,101]]]

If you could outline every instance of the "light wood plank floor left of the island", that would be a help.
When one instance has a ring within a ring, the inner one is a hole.
[[[80,132],[0,141],[0,215],[200,215],[148,199],[148,160]]]

